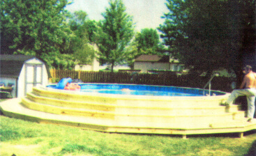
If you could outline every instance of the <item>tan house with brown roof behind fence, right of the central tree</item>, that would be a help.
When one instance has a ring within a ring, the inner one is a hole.
[[[184,65],[170,56],[141,55],[135,59],[134,69],[147,72],[148,70],[170,70],[182,72]]]

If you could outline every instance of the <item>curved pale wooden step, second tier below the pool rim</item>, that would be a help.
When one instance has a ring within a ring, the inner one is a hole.
[[[239,105],[232,105],[228,109],[224,106],[211,106],[209,105],[196,105],[194,106],[185,106],[183,104],[176,104],[172,106],[172,104],[162,104],[160,102],[157,106],[152,104],[123,104],[123,102],[119,102],[119,104],[100,104],[97,102],[77,102],[73,100],[59,100],[54,98],[40,97],[38,95],[34,95],[33,93],[28,93],[27,98],[33,102],[41,103],[41,104],[50,104],[58,107],[68,107],[68,108],[81,108],[81,109],[92,109],[92,110],[100,110],[100,111],[116,111],[124,114],[156,114],[156,112],[160,112],[160,114],[172,114],[172,115],[194,115],[194,114],[220,114],[224,111],[235,112],[239,110]]]

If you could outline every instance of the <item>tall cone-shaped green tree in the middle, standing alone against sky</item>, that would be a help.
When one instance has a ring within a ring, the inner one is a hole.
[[[133,38],[133,20],[127,15],[121,0],[110,1],[110,8],[103,13],[96,36],[101,63],[109,63],[112,68],[126,60],[125,47]]]

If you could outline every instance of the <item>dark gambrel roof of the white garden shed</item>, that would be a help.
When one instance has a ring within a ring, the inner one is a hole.
[[[25,55],[0,55],[0,75],[6,77],[19,77],[22,70],[22,66],[25,61],[36,58],[36,56],[25,56]],[[43,61],[39,59],[40,61]],[[45,61],[43,61],[45,63]],[[50,71],[47,67],[47,73],[50,77]]]

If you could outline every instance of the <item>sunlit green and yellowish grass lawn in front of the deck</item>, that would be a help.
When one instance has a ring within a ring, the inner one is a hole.
[[[181,136],[115,134],[38,124],[0,116],[1,156],[10,155],[246,155],[256,133]],[[254,151],[255,153],[255,151]]]

